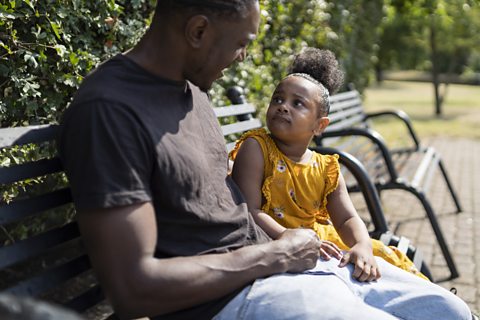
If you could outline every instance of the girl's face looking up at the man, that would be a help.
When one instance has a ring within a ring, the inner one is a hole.
[[[321,88],[302,77],[287,77],[275,89],[267,110],[267,127],[282,141],[309,142],[329,119],[320,116]]]

